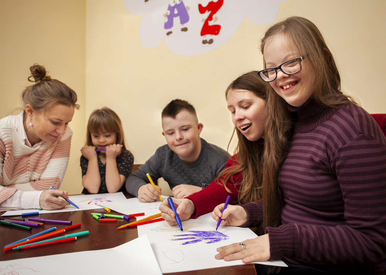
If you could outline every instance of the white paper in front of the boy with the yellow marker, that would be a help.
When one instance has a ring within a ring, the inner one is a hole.
[[[161,196],[163,200],[167,200],[168,196]],[[110,208],[111,210],[117,211],[122,214],[135,214],[135,213],[145,213],[145,216],[140,216],[137,218],[143,219],[147,216],[151,216],[157,213],[160,213],[159,211],[159,205],[162,201],[159,199],[152,202],[152,203],[141,203],[141,201],[138,200],[138,198],[130,198],[126,199],[124,202],[122,201],[104,201],[103,203],[100,203],[103,206],[106,206],[107,208]]]

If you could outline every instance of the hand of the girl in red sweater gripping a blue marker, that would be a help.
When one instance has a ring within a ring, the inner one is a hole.
[[[196,206],[193,201],[189,199],[176,199],[171,198],[174,205],[176,206],[176,212],[181,221],[189,220],[191,215],[195,213]],[[161,216],[166,220],[169,225],[177,225],[175,220],[175,213],[170,208],[168,201],[163,201],[159,206],[159,211],[161,211]]]

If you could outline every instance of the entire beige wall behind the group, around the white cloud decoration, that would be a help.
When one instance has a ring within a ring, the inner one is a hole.
[[[0,81],[5,101],[0,102],[0,116],[20,105],[15,102],[34,62],[46,65],[80,97],[81,109],[70,124],[74,137],[62,185],[69,193],[81,191],[79,150],[93,109],[108,106],[119,114],[135,163],[144,163],[165,144],[161,110],[174,98],[190,101],[204,124],[201,137],[226,149],[232,123],[225,88],[240,74],[262,69],[259,39],[268,25],[247,19],[218,49],[184,56],[164,42],[153,49],[143,47],[143,16],[127,12],[123,0],[1,3],[0,54],[5,66]],[[276,20],[291,15],[312,20],[335,55],[345,91],[370,113],[386,112],[386,2],[286,0],[278,6]]]

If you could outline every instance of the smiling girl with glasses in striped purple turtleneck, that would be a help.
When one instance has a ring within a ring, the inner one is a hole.
[[[385,136],[342,93],[315,24],[302,17],[276,23],[261,52],[259,75],[271,86],[262,200],[228,205],[222,214],[216,207],[212,216],[231,226],[262,223],[266,234],[220,247],[216,258],[283,259],[289,267],[281,274],[385,274]]]

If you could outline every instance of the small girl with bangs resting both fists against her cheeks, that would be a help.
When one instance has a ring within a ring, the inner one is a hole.
[[[91,113],[86,144],[80,151],[82,193],[119,191],[131,173],[134,156],[126,149],[121,120],[112,109],[103,107]]]

